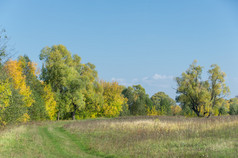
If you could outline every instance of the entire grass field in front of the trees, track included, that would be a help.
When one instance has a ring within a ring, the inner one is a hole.
[[[0,157],[237,157],[238,116],[35,122],[0,132]]]

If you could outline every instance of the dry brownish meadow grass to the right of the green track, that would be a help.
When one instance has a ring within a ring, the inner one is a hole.
[[[95,151],[115,157],[235,157],[238,116],[124,117],[65,125]]]

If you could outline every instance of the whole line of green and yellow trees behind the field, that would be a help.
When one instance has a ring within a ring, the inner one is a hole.
[[[141,85],[125,87],[100,80],[92,63],[82,63],[63,45],[41,50],[41,70],[28,56],[7,59],[4,30],[0,36],[0,125],[33,120],[68,120],[129,115],[234,115],[238,98],[226,99],[229,88],[218,65],[201,78],[196,62],[176,78],[176,101],[164,92],[152,97]],[[4,60],[6,59],[6,60]]]

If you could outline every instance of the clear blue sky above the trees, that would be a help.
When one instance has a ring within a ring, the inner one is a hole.
[[[16,56],[65,45],[96,65],[101,79],[141,84],[175,98],[174,77],[194,59],[226,72],[238,95],[238,2],[235,0],[0,0],[0,25]]]

